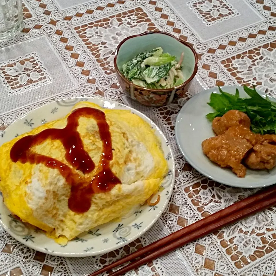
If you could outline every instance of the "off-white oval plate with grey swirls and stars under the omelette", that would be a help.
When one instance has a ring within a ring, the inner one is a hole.
[[[131,110],[143,118],[146,122],[152,125],[155,129],[156,135],[160,138],[162,149],[166,160],[168,161],[169,173],[165,177],[162,187],[164,190],[159,192],[160,202],[156,206],[141,206],[131,216],[123,218],[120,222],[106,223],[100,225],[88,232],[82,233],[72,241],[68,241],[66,246],[57,244],[53,239],[46,237],[42,231],[34,231],[27,227],[21,221],[16,220],[11,212],[5,207],[0,196],[0,223],[4,229],[15,239],[22,242],[35,250],[66,257],[84,257],[93,256],[97,254],[104,254],[106,252],[120,248],[131,241],[140,237],[157,221],[164,211],[170,196],[173,191],[173,183],[175,177],[175,164],[173,154],[163,133],[149,118],[141,112],[119,104],[115,101],[103,98],[78,98],[69,99],[42,106],[24,115],[22,118],[16,120],[11,124],[0,139],[0,145],[14,137],[30,131],[32,128],[38,127],[40,124],[56,120],[68,114],[72,106],[78,101],[91,101],[104,108]],[[154,200],[154,198],[153,198]]]

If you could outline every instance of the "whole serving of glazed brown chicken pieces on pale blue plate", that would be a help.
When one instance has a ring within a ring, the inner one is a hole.
[[[272,169],[276,166],[276,135],[254,134],[249,117],[238,110],[230,110],[216,117],[212,129],[217,135],[202,142],[204,154],[223,168],[231,168],[238,177],[251,169]]]

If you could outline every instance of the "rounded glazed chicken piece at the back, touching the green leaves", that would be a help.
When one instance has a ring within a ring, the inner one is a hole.
[[[214,118],[212,129],[216,135],[225,133],[227,129],[234,126],[243,126],[250,129],[249,117],[241,111],[229,110],[222,117]]]

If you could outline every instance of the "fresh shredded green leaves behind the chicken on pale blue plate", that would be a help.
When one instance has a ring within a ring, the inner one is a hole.
[[[270,101],[268,97],[260,96],[255,87],[250,89],[244,86],[248,98],[240,98],[239,90],[235,95],[221,90],[221,94],[212,93],[209,106],[215,112],[209,113],[206,117],[212,121],[215,117],[223,116],[229,110],[239,110],[247,114],[251,120],[251,131],[260,134],[276,133],[276,102]]]

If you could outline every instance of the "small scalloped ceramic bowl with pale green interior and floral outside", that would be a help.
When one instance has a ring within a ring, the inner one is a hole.
[[[183,67],[181,69],[185,77],[184,83],[168,89],[148,89],[134,85],[121,73],[123,64],[133,59],[135,55],[146,50],[151,51],[157,47],[162,47],[165,53],[175,55],[177,60],[184,52]],[[164,106],[170,104],[176,98],[183,97],[185,91],[187,91],[187,86],[196,75],[197,63],[198,58],[193,47],[166,32],[145,32],[127,37],[116,48],[114,57],[114,66],[122,89],[132,99],[145,106]]]

